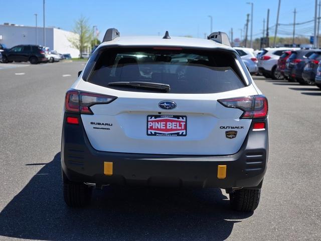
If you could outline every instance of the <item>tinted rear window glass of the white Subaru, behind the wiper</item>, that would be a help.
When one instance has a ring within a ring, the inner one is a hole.
[[[233,52],[112,48],[92,58],[87,81],[113,89],[157,92],[109,85],[132,81],[168,84],[169,93],[218,93],[245,86]]]

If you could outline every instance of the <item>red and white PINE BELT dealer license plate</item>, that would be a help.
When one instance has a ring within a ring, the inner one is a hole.
[[[147,136],[185,137],[186,115],[147,115]]]

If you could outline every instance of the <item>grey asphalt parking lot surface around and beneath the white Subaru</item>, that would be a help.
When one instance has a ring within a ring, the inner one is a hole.
[[[321,90],[254,77],[269,100],[269,163],[254,213],[220,189],[105,188],[68,208],[65,91],[85,62],[0,66],[0,240],[320,240]]]

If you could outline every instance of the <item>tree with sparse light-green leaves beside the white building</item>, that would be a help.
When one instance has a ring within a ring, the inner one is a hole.
[[[91,27],[88,24],[88,19],[84,16],[75,21],[73,31],[75,35],[68,38],[72,47],[78,49],[80,52],[80,58],[82,58],[82,53],[86,46],[90,46],[92,40]]]

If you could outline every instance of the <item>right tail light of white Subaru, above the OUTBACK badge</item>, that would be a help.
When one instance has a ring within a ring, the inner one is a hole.
[[[268,103],[264,95],[219,99],[218,102],[228,108],[243,110],[240,116],[242,119],[264,118],[268,112]]]

